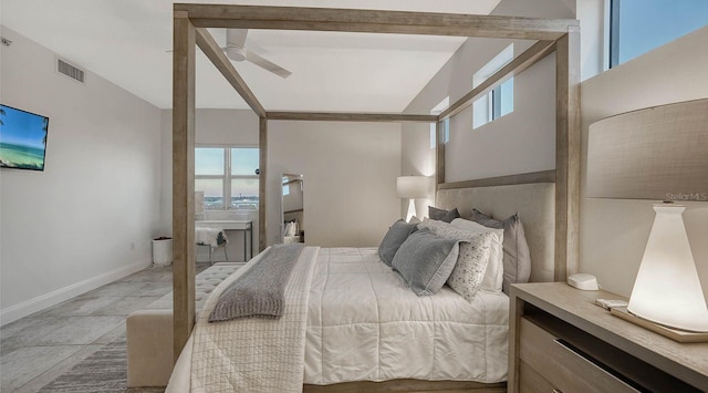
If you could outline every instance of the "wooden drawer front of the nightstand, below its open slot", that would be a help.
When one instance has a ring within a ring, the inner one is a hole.
[[[561,392],[637,392],[616,376],[610,374],[573,345],[554,337],[525,318],[520,319],[519,358],[530,369]],[[520,368],[521,369],[521,368]],[[532,373],[527,373],[530,383],[543,384]],[[520,370],[520,374],[524,372]],[[520,375],[520,378],[521,378]],[[522,392],[523,380],[520,379]],[[541,386],[538,386],[541,387]],[[544,387],[544,391],[549,386]],[[534,389],[529,389],[534,391]],[[552,389],[550,391],[553,391]]]

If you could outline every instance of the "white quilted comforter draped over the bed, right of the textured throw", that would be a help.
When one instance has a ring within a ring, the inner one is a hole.
[[[509,298],[417,297],[375,248],[321,249],[308,309],[305,383],[507,379]]]

